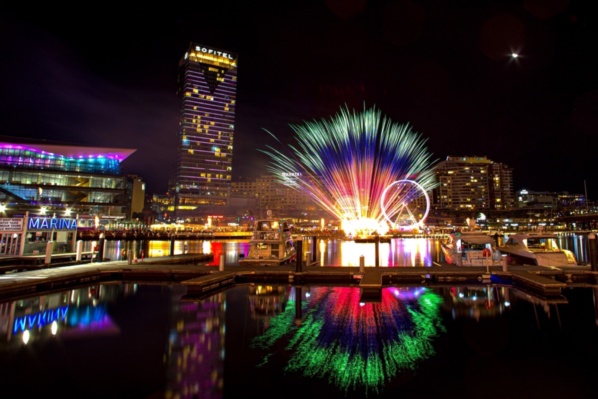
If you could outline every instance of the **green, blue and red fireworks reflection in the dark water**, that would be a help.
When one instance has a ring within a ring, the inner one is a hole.
[[[252,346],[270,349],[286,338],[291,351],[286,371],[327,377],[344,391],[380,392],[402,370],[415,370],[434,355],[432,339],[444,331],[441,304],[425,288],[385,288],[377,304],[359,303],[357,288],[312,288],[299,327],[289,301]]]

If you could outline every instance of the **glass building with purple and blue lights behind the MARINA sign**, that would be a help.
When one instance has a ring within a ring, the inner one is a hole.
[[[69,208],[78,214],[126,214],[120,162],[135,150],[0,141],[0,203],[10,211]]]

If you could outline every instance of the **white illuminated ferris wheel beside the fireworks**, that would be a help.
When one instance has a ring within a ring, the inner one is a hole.
[[[380,208],[392,229],[413,230],[421,228],[428,217],[430,197],[418,182],[397,180],[382,191]]]

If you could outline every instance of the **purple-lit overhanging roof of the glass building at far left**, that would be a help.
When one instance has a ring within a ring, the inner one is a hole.
[[[109,158],[122,162],[135,153],[132,148],[87,147],[84,145],[59,145],[59,144],[33,144],[0,141],[0,148],[14,148],[28,150],[39,154],[48,154],[66,158]]]

